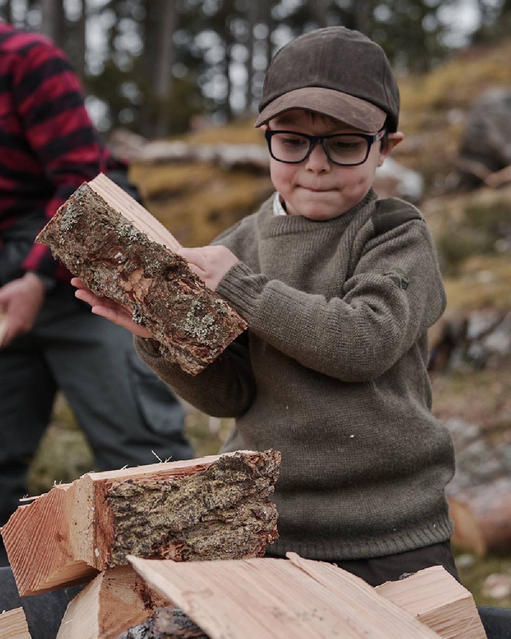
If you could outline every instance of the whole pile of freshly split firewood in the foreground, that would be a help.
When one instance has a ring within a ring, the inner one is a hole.
[[[96,575],[57,639],[485,639],[441,566],[374,589],[296,553],[263,558],[279,465],[273,450],[238,451],[54,486],[1,530],[20,595]],[[2,639],[29,639],[3,620],[26,627],[1,615]]]

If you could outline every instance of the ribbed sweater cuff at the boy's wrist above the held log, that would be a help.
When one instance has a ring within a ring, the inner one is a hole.
[[[264,275],[254,273],[246,264],[238,262],[222,277],[215,293],[234,307],[250,326],[267,281]]]

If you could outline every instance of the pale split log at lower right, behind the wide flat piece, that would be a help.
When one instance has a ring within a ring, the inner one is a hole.
[[[404,608],[443,639],[486,639],[474,599],[442,566],[387,581],[376,592]]]

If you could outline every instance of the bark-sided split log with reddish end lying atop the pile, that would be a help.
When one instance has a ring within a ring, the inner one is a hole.
[[[1,529],[20,596],[90,580],[126,555],[259,557],[278,537],[280,453],[240,451],[88,473],[20,506]]]

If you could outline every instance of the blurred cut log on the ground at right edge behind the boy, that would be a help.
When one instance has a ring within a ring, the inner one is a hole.
[[[479,557],[511,550],[511,479],[501,477],[449,498],[452,542]]]

